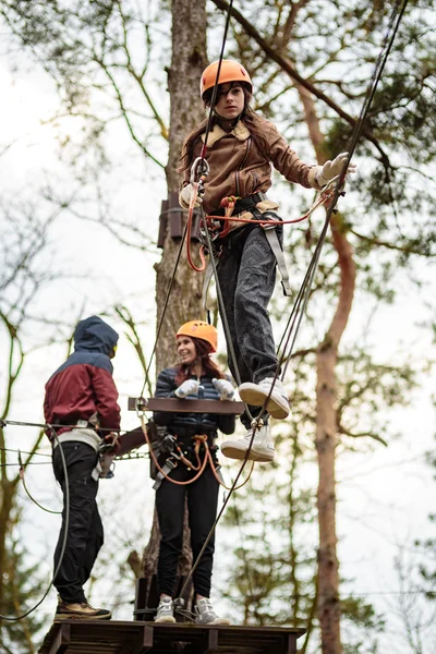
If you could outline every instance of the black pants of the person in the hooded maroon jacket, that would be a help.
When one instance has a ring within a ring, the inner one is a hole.
[[[62,554],[65,533],[65,475],[60,448],[66,462],[70,516],[65,550],[53,585],[64,602],[86,602],[83,584],[88,580],[104,543],[96,496],[98,482],[90,476],[97,452],[84,443],[64,443],[53,450],[53,472],[63,493],[62,526],[55,550],[55,570]]]

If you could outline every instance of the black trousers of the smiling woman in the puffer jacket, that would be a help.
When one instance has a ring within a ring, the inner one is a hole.
[[[194,471],[180,463],[171,472],[177,481],[186,481],[195,475]],[[164,480],[156,492],[156,508],[160,526],[160,548],[157,566],[159,593],[173,596],[179,556],[183,545],[183,517],[187,498],[191,548],[194,561],[197,559],[206,537],[217,516],[219,484],[209,465],[202,476],[187,486],[178,486]],[[214,564],[215,532],[193,574],[194,590],[209,597],[210,579]]]

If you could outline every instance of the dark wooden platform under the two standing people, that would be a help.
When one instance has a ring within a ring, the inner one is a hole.
[[[295,654],[304,629],[63,620],[38,654]]]

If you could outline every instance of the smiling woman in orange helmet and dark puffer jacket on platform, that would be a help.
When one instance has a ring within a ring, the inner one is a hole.
[[[155,397],[186,401],[232,399],[232,384],[210,359],[210,354],[216,350],[215,327],[202,320],[191,320],[182,325],[177,332],[180,363],[159,374]],[[207,439],[207,447],[216,465],[217,432],[220,429],[225,434],[232,434],[235,420],[234,415],[155,412],[154,422],[165,426],[167,432],[166,453],[160,455],[159,465],[177,482],[172,483],[160,475],[161,481],[156,492],[161,537],[158,558],[159,606],[155,620],[175,622],[173,593],[178,559],[183,544],[185,498],[194,561],[217,516],[219,482],[210,460],[202,472],[206,456],[206,447],[202,441]],[[166,465],[168,460],[171,461],[170,465]],[[215,614],[209,602],[214,549],[215,532],[193,573],[195,621],[199,625],[229,625],[229,620]]]

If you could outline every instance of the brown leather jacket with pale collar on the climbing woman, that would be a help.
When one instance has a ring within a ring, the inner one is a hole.
[[[261,154],[243,120],[230,133],[218,124],[209,132],[206,160],[210,170],[203,199],[206,214],[217,210],[223,197],[246,197],[256,191],[266,193],[271,185],[271,164],[289,182],[320,189],[315,179],[316,166],[307,166],[299,159],[277,128],[265,118],[258,118],[269,147],[268,158]],[[194,144],[194,159],[201,154],[204,136],[202,134]],[[190,175],[191,168],[184,172],[183,186],[190,183]]]

